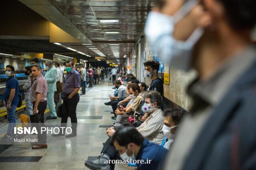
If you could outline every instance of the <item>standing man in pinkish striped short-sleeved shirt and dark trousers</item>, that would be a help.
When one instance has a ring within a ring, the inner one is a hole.
[[[31,66],[31,102],[33,103],[33,115],[30,116],[31,123],[37,127],[38,142],[32,146],[32,149],[47,148],[46,133],[41,132],[44,127],[44,111],[47,107],[47,81],[41,73],[41,66],[34,64]],[[32,125],[33,126],[33,125]]]

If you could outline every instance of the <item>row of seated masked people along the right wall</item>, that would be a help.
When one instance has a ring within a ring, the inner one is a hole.
[[[115,119],[112,118],[114,125],[106,129],[109,138],[104,143],[100,156],[95,160],[85,161],[85,165],[92,170],[113,170],[115,164],[109,160],[148,159],[151,160],[150,164],[137,163],[138,170],[155,170],[164,160],[185,111],[173,108],[163,112],[161,94],[147,91],[145,83],[136,79],[128,78],[126,87],[119,80],[115,85],[117,96],[105,103],[111,104],[115,109]],[[127,97],[122,97],[119,101],[126,91]],[[163,141],[167,142],[161,146]]]

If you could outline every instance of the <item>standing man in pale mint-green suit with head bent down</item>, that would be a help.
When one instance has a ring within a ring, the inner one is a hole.
[[[51,113],[51,116],[47,116],[47,119],[57,119],[54,103],[54,93],[57,91],[56,82],[58,72],[52,61],[46,61],[45,65],[47,67],[47,72],[44,75],[44,78],[46,79],[48,85],[47,104]]]

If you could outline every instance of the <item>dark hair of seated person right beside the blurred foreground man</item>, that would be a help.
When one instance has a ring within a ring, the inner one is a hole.
[[[163,116],[171,116],[175,125],[179,125],[183,115],[187,112],[182,108],[167,108],[163,111]]]

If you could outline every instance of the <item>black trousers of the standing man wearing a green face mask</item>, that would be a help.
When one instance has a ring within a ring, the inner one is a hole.
[[[79,102],[79,94],[76,94],[71,99],[68,95],[64,96],[61,113],[61,127],[67,127],[67,118],[70,117],[72,123],[72,132],[76,132],[77,128],[77,117],[76,117],[76,106]]]

